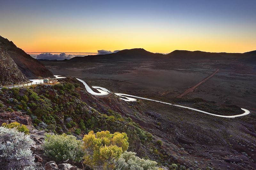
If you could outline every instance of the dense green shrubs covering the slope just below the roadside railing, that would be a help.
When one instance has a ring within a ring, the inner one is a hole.
[[[130,117],[123,117],[111,109],[97,110],[97,104],[81,100],[81,89],[74,80],[55,85],[37,85],[25,88],[3,88],[0,90],[2,111],[21,111],[32,118],[38,130],[54,134],[82,136],[93,130],[125,132],[129,147],[142,152],[140,145],[152,141],[152,135],[134,123]],[[79,139],[81,137],[78,137]]]

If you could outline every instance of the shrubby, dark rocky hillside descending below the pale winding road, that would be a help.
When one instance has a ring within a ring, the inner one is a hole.
[[[176,170],[256,167],[254,114],[226,119],[145,100],[124,102],[112,94],[92,96],[75,78],[60,81],[53,86],[41,84],[2,89],[0,123],[6,122],[10,115],[12,119],[9,121],[26,124],[31,129],[30,136],[38,143],[44,140],[44,135],[38,139],[33,128],[40,133],[65,132],[79,140],[91,130],[125,132],[128,151],[155,160],[166,170],[175,165]],[[202,99],[175,99],[172,102],[184,102],[198,109],[209,108],[216,113],[239,111],[236,106],[217,105]],[[54,160],[38,148],[33,153],[36,161],[42,157],[41,166]],[[72,161],[68,163],[74,165]],[[84,167],[89,164],[84,162]],[[83,169],[81,164],[75,165]],[[95,166],[93,169],[102,168]]]

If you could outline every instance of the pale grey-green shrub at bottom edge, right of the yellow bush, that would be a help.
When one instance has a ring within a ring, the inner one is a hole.
[[[115,170],[158,170],[157,162],[141,159],[135,152],[125,151],[119,159],[114,160]]]

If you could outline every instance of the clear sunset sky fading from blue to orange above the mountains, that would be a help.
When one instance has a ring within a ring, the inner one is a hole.
[[[256,50],[255,0],[0,0],[0,35],[25,52]]]

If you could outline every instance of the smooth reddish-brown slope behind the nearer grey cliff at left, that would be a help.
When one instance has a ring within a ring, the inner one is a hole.
[[[7,51],[9,56],[17,64],[18,68],[27,77],[51,77],[52,72],[49,71],[44,65],[32,58],[30,55],[25,53],[22,49],[18,48],[13,44],[12,41],[5,39],[0,36],[0,42],[2,43],[2,48]]]

